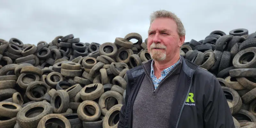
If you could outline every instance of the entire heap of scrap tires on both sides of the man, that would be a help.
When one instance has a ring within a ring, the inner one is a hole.
[[[212,31],[180,49],[217,77],[236,128],[256,127],[255,53],[256,33],[240,28]],[[125,73],[150,59],[147,38],[138,33],[103,44],[73,34],[37,45],[0,39],[0,127],[117,127]]]

